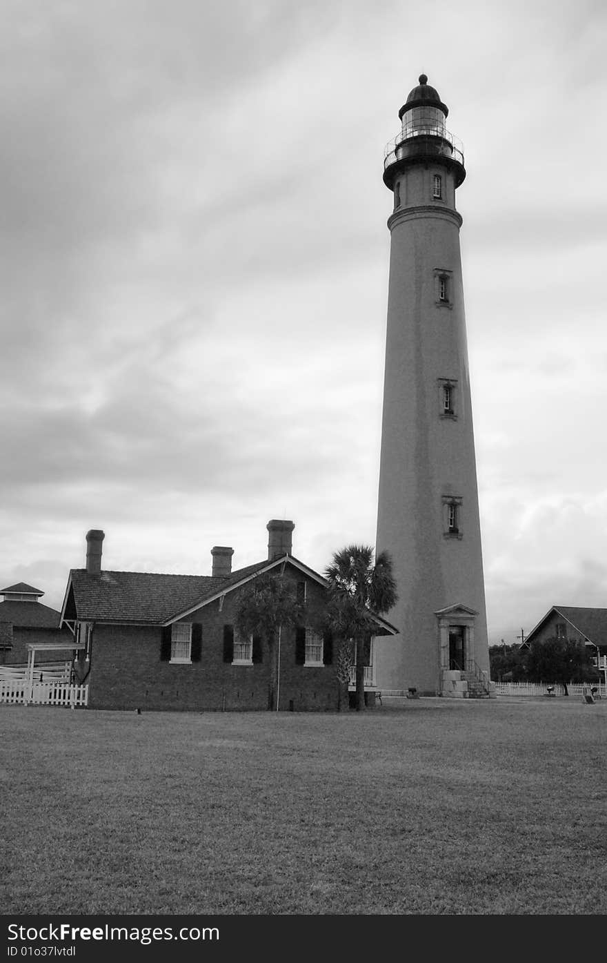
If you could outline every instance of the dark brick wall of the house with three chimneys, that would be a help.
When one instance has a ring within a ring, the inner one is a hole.
[[[293,581],[304,578],[293,576]],[[319,604],[320,587],[308,581],[307,590],[309,601]],[[266,640],[260,664],[233,665],[223,661],[223,626],[234,624],[237,600],[237,593],[230,593],[221,612],[217,600],[184,619],[202,624],[202,657],[198,663],[161,661],[159,626],[95,625],[87,678],[90,708],[265,710],[270,668]],[[87,669],[81,661],[81,677]],[[334,664],[295,664],[295,632],[284,630],[280,646],[280,710],[326,711],[336,709],[337,704]]]

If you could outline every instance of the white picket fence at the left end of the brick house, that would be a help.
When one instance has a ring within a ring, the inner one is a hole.
[[[69,663],[35,668],[30,685],[27,668],[0,666],[0,702],[39,706],[86,706],[89,686],[72,686],[69,682]]]

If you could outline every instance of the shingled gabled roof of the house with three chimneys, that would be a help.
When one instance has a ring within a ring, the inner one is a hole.
[[[258,561],[223,577],[106,571],[102,571],[100,575],[89,575],[86,569],[75,568],[69,573],[62,619],[65,617],[71,592],[79,619],[121,624],[169,625],[245,585],[256,575],[286,564],[297,568],[319,585],[328,585],[314,569],[291,555]],[[395,635],[398,632],[386,619],[379,615],[373,617],[378,627],[383,630],[381,634]]]

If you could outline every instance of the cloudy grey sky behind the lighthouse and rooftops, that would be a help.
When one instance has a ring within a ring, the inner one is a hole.
[[[375,538],[392,195],[458,191],[490,638],[607,606],[602,0],[0,0],[0,583]]]

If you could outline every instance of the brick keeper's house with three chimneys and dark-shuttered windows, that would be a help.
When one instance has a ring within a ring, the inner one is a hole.
[[[300,598],[323,604],[325,579],[291,554],[291,521],[267,524],[267,558],[232,571],[232,548],[211,550],[213,572],[160,575],[101,567],[104,533],[87,534],[87,567],[69,573],[62,626],[74,651],[76,682],[89,686],[89,708],[141,710],[264,710],[269,659],[264,638],[239,638],[240,590],[266,572],[280,572]],[[396,629],[373,616],[377,636]],[[330,636],[310,627],[281,632],[278,708],[332,710],[339,683]],[[374,701],[372,644],[366,670]],[[353,687],[351,686],[350,689]]]

